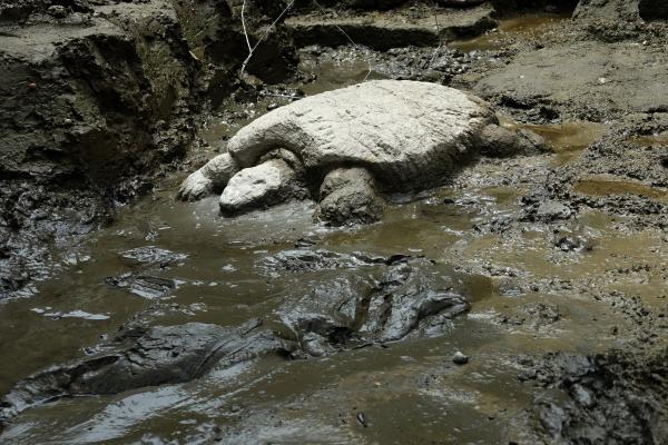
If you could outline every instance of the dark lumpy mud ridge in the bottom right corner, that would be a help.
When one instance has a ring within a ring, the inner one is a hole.
[[[569,444],[664,444],[668,441],[668,349],[554,354],[522,378],[547,389],[533,416],[548,439]]]

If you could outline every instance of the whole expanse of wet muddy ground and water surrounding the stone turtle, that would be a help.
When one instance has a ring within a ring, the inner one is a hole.
[[[551,152],[341,228],[308,201],[222,218],[174,199],[185,174],[153,179],[73,246],[37,244],[45,279],[0,307],[0,442],[665,443],[665,23],[512,12],[452,44],[302,48],[293,79],[207,112],[184,169],[369,78],[471,90]]]

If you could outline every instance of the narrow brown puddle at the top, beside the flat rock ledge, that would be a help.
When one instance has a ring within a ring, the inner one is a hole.
[[[498,51],[517,41],[527,41],[540,37],[556,23],[570,19],[570,14],[534,13],[522,17],[502,19],[499,27],[483,36],[470,40],[458,40],[449,43],[450,48],[463,52]]]

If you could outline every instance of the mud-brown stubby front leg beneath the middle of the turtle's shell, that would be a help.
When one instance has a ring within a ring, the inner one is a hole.
[[[320,199],[316,218],[333,226],[375,222],[385,210],[373,177],[363,168],[331,171],[323,180]]]

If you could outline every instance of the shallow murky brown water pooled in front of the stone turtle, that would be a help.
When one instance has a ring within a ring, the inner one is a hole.
[[[353,63],[347,82],[362,80],[365,70]],[[341,86],[346,76],[314,83],[312,92]],[[263,98],[243,119],[214,122],[205,137],[217,144],[273,100],[278,99]],[[532,129],[557,151],[581,150],[601,130],[581,123]],[[550,166],[557,158],[522,162]],[[465,175],[503,177],[509,168],[473,167]],[[167,179],[153,196],[122,209],[33,297],[2,307],[0,392],[41,367],[86,354],[100,335],[131,319],[234,326],[262,317],[272,323],[279,307],[341,273],[263,268],[268,256],[295,245],[425,256],[460,284],[472,309],[436,338],[317,359],[262,358],[186,384],[58,400],[23,413],[0,442],[508,443],[517,438],[514,419],[532,397],[531,385],[517,378],[518,357],[599,352],[622,343],[630,322],[593,298],[596,293],[631,293],[649,304],[665,297],[660,269],[618,273],[668,260],[657,231],[631,233],[620,218],[595,211],[553,227],[527,222],[487,230],[495,221],[519,219],[530,184],[460,180],[420,197],[394,197],[376,225],[332,229],[313,222],[312,204],[223,219],[215,198],[175,201],[180,179]],[[562,251],[554,230],[587,238],[589,248]],[[128,250],[147,246],[168,250],[175,260],[128,258]],[[151,294],[107,280],[132,273],[173,280],[174,288]],[[452,364],[455,350],[468,354],[470,364]]]

